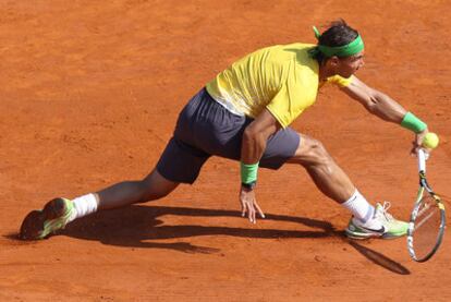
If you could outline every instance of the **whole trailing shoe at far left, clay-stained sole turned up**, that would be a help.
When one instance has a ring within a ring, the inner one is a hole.
[[[32,210],[21,226],[22,240],[45,239],[63,229],[75,210],[72,201],[54,198],[48,202],[42,210]]]

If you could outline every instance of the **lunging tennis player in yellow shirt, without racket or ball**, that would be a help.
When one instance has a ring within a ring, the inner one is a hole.
[[[340,20],[322,34],[314,31],[316,45],[257,50],[202,88],[180,113],[172,138],[146,178],[74,200],[54,198],[25,217],[21,238],[44,239],[97,210],[161,198],[180,183],[194,183],[214,155],[240,162],[242,215],[253,224],[257,216],[265,217],[255,197],[258,169],[277,170],[291,164],[303,167],[326,196],[350,210],[349,237],[406,234],[407,224],[394,219],[388,204],[368,203],[320,142],[289,125],[315,102],[318,89],[330,84],[369,113],[413,131],[413,152],[420,146],[427,125],[354,75],[364,65],[364,43],[355,29]]]

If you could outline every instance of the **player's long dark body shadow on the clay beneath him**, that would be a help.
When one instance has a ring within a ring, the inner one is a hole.
[[[163,226],[166,215],[195,217],[240,217],[237,210],[203,209],[190,207],[139,206],[106,210],[77,219],[59,234],[100,241],[103,244],[127,247],[171,249],[186,253],[215,253],[219,250],[197,246],[187,242],[162,243],[155,240],[180,239],[199,235],[231,235],[242,238],[325,238],[337,235],[329,222],[282,215],[266,215],[265,220],[291,221],[314,229],[312,231],[205,227],[198,225]]]

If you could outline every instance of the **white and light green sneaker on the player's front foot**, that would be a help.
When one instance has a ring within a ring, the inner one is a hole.
[[[392,239],[405,235],[409,224],[397,220],[387,210],[390,203],[376,204],[375,215],[366,222],[353,217],[345,229],[345,234],[352,239],[383,238]]]

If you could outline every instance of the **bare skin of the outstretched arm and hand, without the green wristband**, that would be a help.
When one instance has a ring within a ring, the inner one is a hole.
[[[370,113],[385,121],[401,124],[407,113],[407,110],[405,110],[398,101],[388,95],[367,86],[356,76],[353,76],[352,82],[348,86],[341,87],[341,89],[351,98],[362,104]],[[416,153],[416,149],[422,145],[423,138],[427,133],[427,126],[423,131],[416,133],[413,142],[413,152]]]

